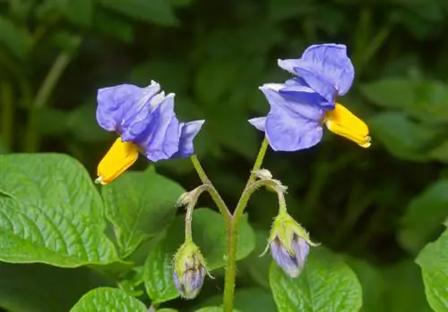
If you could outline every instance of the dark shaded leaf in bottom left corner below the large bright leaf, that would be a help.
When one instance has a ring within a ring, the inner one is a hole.
[[[0,307],[14,312],[66,312],[90,289],[112,282],[85,267],[1,263]]]

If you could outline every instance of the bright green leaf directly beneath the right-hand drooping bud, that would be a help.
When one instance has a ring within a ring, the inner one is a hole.
[[[362,291],[356,274],[325,249],[312,249],[304,271],[295,279],[272,262],[270,282],[281,312],[355,312],[362,306]]]

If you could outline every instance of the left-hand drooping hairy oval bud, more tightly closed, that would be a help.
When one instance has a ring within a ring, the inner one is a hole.
[[[173,261],[173,282],[185,299],[194,299],[202,289],[207,266],[201,251],[193,242],[185,242]]]

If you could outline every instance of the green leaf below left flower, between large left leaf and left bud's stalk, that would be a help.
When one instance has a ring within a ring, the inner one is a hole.
[[[115,226],[121,254],[131,254],[143,240],[165,230],[176,215],[185,190],[151,167],[128,172],[102,188],[106,215]]]

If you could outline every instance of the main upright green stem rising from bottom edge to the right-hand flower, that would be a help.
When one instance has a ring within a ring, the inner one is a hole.
[[[237,235],[238,235],[238,225],[241,217],[245,211],[247,202],[251,197],[255,188],[251,188],[255,180],[254,172],[260,170],[263,164],[263,159],[268,148],[268,141],[266,138],[263,139],[262,146],[258,151],[256,156],[254,167],[247,180],[245,190],[241,194],[238,200],[235,212],[232,215],[231,223],[227,229],[227,260],[226,260],[226,276],[224,281],[224,312],[233,312],[233,301],[235,296],[235,280],[237,274]]]

